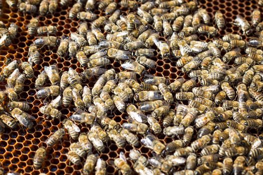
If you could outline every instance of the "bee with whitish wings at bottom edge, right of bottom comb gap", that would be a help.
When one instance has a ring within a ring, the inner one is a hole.
[[[122,174],[132,174],[132,169],[127,163],[126,157],[123,152],[120,152],[120,157],[114,160],[114,164],[118,169],[120,169]]]

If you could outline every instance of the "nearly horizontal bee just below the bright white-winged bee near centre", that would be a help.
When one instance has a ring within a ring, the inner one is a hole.
[[[145,135],[148,130],[148,125],[144,123],[140,123],[136,120],[130,119],[130,122],[126,122],[122,124],[122,128],[127,129],[132,132],[136,132],[137,134]]]

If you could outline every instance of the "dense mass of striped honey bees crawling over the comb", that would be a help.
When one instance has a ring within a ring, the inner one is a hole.
[[[7,3],[19,6],[21,11],[39,10],[45,15],[69,1]],[[258,3],[263,4],[260,0]],[[122,14],[118,5],[130,12]],[[92,12],[96,8],[104,10],[105,15],[98,17]],[[17,92],[23,91],[26,78],[34,76],[32,64],[40,63],[39,49],[55,47],[59,56],[76,58],[84,67],[79,73],[73,68],[60,72],[56,64],[45,66],[36,79],[36,97],[44,99],[40,112],[63,122],[63,127],[45,141],[46,146],[36,151],[36,169],[42,167],[46,148],[68,132],[78,141],[70,145],[67,157],[73,164],[83,163],[83,174],[94,170],[95,174],[107,173],[107,163],[99,153],[104,152],[109,140],[118,147],[133,146],[129,154],[120,152],[112,162],[122,174],[263,173],[263,134],[251,134],[263,125],[263,22],[259,10],[252,12],[251,22],[241,15],[233,21],[242,34],[258,34],[248,41],[239,34],[226,34],[209,42],[198,40],[199,35],[215,36],[224,29],[225,20],[217,11],[216,26],[212,26],[211,17],[205,9],[198,8],[196,1],[79,0],[70,9],[69,17],[81,22],[77,32],[62,38],[56,36],[55,26],[38,27],[38,19],[32,18],[29,34],[47,36],[37,38],[30,46],[28,62],[20,63],[23,73],[17,60],[11,60],[1,73],[2,80],[7,78],[7,89],[0,92],[0,102],[12,108],[11,117],[3,107],[1,120],[11,128],[18,120],[31,129],[34,117],[24,111],[30,106],[18,101]],[[2,39],[4,36],[14,38],[14,26],[2,27],[0,43],[10,42]],[[165,77],[149,74],[147,70],[156,66],[151,59],[156,47],[164,61],[175,61],[189,78],[170,83]],[[111,59],[119,61],[123,70],[106,69]],[[91,77],[98,77],[92,88],[85,84]],[[45,86],[48,81],[51,85]],[[76,107],[75,112],[63,116],[58,108],[70,105]],[[112,119],[110,113],[114,110],[127,112],[128,121],[120,124]],[[89,132],[81,133],[76,123],[85,123]],[[163,143],[159,134],[173,141]],[[135,148],[140,143],[152,150],[153,157],[147,158]],[[132,164],[127,162],[128,155]]]

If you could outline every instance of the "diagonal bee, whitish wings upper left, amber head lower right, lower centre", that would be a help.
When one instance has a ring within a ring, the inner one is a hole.
[[[154,135],[148,134],[141,139],[142,144],[144,144],[149,149],[152,149],[157,154],[161,154],[165,149],[165,145],[159,141]]]

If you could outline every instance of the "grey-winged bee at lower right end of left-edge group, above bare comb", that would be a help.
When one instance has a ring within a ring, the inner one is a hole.
[[[23,126],[29,128],[29,129],[31,129],[31,128],[34,126],[34,123],[33,123],[32,120],[33,120],[33,119],[35,120],[35,118],[34,118],[32,115],[30,115],[30,114],[22,111],[20,108],[15,107],[15,108],[12,110],[11,114],[12,114],[12,116],[13,116],[14,118],[16,118],[16,119],[20,122],[20,124],[22,124]]]

